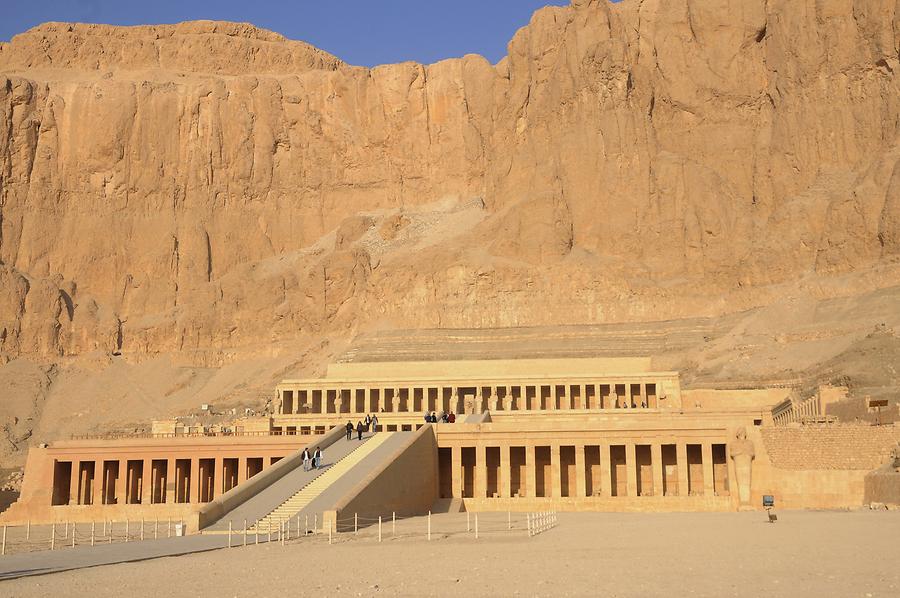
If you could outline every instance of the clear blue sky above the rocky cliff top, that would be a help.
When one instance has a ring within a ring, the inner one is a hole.
[[[45,21],[137,25],[248,21],[357,65],[435,62],[476,53],[496,62],[536,9],[568,0],[0,0],[0,40]]]

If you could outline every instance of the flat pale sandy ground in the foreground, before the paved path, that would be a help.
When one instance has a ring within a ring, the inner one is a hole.
[[[537,537],[481,516],[0,583],[44,596],[897,596],[900,512],[561,514]],[[402,530],[402,533],[401,533]]]

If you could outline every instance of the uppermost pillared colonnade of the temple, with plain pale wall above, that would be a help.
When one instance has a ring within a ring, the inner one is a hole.
[[[643,358],[333,364],[277,387],[283,416],[680,407],[678,373]]]

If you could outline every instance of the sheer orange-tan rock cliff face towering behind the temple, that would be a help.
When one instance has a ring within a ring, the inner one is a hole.
[[[374,69],[249,25],[43,25],[0,44],[0,352],[213,364],[895,285],[898,6],[574,0],[497,65]]]

